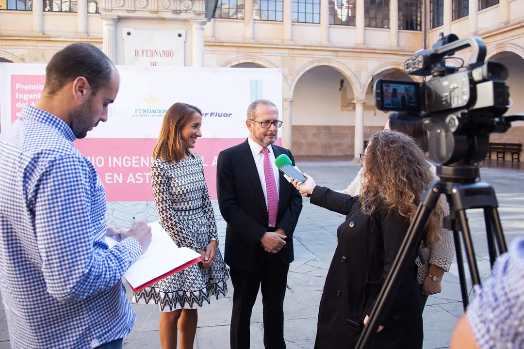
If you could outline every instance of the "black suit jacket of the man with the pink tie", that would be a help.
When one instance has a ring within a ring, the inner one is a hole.
[[[272,145],[275,157],[293,155],[285,148]],[[282,261],[293,261],[293,232],[302,211],[302,196],[280,172],[280,189],[276,228],[286,235],[286,245],[277,252]],[[232,268],[252,271],[262,265],[268,252],[260,239],[268,230],[266,199],[258,176],[255,159],[247,140],[223,150],[216,165],[216,191],[220,213],[227,222],[224,261]]]

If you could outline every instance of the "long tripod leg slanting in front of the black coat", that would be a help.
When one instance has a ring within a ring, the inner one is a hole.
[[[386,307],[389,306],[397,293],[398,285],[402,279],[403,273],[409,263],[412,263],[411,257],[416,249],[420,246],[420,237],[428,222],[431,211],[435,208],[436,202],[440,197],[440,189],[443,187],[442,182],[433,182],[427,192],[424,192],[421,203],[415,212],[406,237],[402,241],[400,251],[393,262],[388,277],[380,288],[377,300],[369,314],[369,322],[364,327],[364,331],[358,339],[357,349],[369,348],[372,343],[374,334],[377,332],[378,325],[382,320]],[[423,201],[423,202],[422,202]]]

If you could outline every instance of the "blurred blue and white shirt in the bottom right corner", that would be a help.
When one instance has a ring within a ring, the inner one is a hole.
[[[480,348],[524,348],[524,238],[515,239],[497,258],[492,277],[475,286],[467,318]]]

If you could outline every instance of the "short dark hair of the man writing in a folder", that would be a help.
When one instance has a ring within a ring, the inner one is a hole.
[[[113,69],[113,62],[102,50],[87,42],[75,42],[54,54],[47,64],[44,91],[52,96],[83,76],[95,95],[110,82]]]

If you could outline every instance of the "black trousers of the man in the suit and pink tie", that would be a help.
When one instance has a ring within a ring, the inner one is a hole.
[[[262,248],[262,247],[260,247]],[[256,271],[231,268],[233,284],[233,311],[231,313],[231,349],[249,349],[251,312],[261,285],[264,318],[264,346],[266,349],[285,349],[284,297],[289,264],[277,253],[267,253],[264,263]]]

